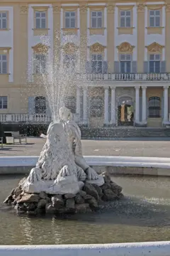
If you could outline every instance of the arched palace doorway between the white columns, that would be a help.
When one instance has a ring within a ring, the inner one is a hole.
[[[134,125],[134,104],[131,97],[118,100],[118,126]]]

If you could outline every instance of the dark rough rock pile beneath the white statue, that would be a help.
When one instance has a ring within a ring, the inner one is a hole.
[[[84,182],[84,187],[76,195],[49,195],[45,192],[39,194],[25,193],[21,183],[13,188],[10,196],[4,203],[13,206],[18,213],[38,215],[42,213],[87,213],[98,210],[105,201],[115,201],[123,197],[122,188],[111,181],[107,173],[101,174],[105,183],[103,186]]]

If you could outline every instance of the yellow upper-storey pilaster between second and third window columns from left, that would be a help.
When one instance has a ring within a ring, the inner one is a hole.
[[[60,24],[60,16],[61,16],[61,5],[60,4],[52,4],[53,9],[53,36],[54,36],[54,64],[57,68],[57,65],[60,65],[60,38],[61,38],[61,24]]]

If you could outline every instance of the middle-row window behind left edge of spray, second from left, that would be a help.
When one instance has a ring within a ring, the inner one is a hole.
[[[43,74],[46,72],[47,55],[42,53],[35,54],[35,73]]]

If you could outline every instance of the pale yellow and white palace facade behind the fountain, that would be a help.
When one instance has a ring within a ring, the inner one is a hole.
[[[50,122],[48,62],[76,69],[78,124],[170,124],[170,1],[1,0],[0,122]]]

